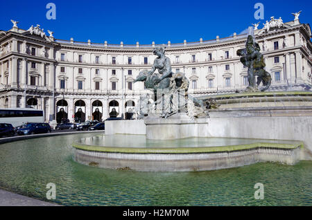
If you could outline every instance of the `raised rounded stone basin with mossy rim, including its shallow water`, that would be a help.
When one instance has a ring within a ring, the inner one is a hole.
[[[85,138],[73,143],[73,147],[74,160],[84,165],[144,172],[185,172],[258,162],[294,165],[300,161],[303,143],[244,138],[147,140],[144,135],[116,134]]]

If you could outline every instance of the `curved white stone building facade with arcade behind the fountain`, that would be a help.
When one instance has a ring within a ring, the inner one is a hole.
[[[268,32],[254,30],[254,35],[264,55],[266,71],[272,75],[271,90],[310,88],[309,24],[290,21]],[[245,89],[248,83],[244,78],[247,68],[236,55],[237,50],[245,48],[246,39],[247,35],[234,33],[223,39],[217,36],[192,43],[168,42],[166,56],[171,59],[173,72],[186,73],[189,93],[194,96],[234,93]],[[128,111],[126,102],[137,104],[139,96],[148,93],[142,82],[133,81],[140,71],[151,68],[155,59],[152,51],[157,45],[66,41],[48,37],[40,26],[28,30],[13,26],[0,31],[0,46],[0,107],[44,109],[46,121],[51,122],[61,107],[70,120],[78,108],[83,109],[86,120],[92,119],[92,112],[98,108],[105,120],[118,103],[115,108],[120,117]],[[31,98],[35,102],[31,103]],[[60,100],[66,100],[67,106],[64,102],[57,106]],[[83,100],[85,106],[76,107],[78,100]],[[97,106],[93,107],[95,103]]]

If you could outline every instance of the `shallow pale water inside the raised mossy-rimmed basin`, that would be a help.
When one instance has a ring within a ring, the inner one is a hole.
[[[263,140],[246,138],[182,138],[176,140],[147,140],[145,135],[114,134],[98,135],[82,138],[77,141],[85,145],[104,147],[139,147],[139,148],[177,148],[177,147],[220,147],[228,145],[246,145],[251,143],[284,143],[293,144],[297,141]]]

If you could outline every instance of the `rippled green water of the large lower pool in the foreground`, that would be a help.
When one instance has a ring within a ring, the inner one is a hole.
[[[80,165],[71,143],[92,134],[0,145],[0,187],[61,205],[312,205],[312,161],[209,172],[123,172]],[[254,199],[263,183],[264,199]]]

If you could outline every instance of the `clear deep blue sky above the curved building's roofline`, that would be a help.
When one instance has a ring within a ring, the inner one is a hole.
[[[3,0],[1,0],[3,1]],[[56,5],[56,20],[46,19],[46,4]],[[44,30],[53,30],[57,39],[109,44],[166,44],[199,41],[200,37],[215,39],[228,37],[257,23],[254,4],[264,5],[264,19],[281,17],[293,20],[291,12],[302,10],[300,21],[312,22],[312,1],[257,0],[257,1],[81,1],[37,0],[3,1],[0,30],[12,27],[10,19],[19,21],[19,28],[28,29],[40,24]],[[261,20],[265,23],[265,20]],[[48,34],[46,32],[46,34]]]

